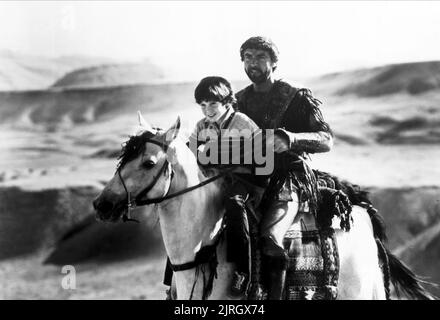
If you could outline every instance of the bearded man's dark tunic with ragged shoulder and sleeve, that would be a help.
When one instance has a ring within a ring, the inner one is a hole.
[[[315,213],[317,183],[306,162],[307,154],[328,151],[333,142],[330,127],[319,110],[320,101],[310,90],[297,89],[283,81],[275,81],[269,92],[256,92],[250,85],[236,96],[238,111],[261,129],[274,129],[289,143],[289,151],[275,155],[267,200],[292,201],[291,194],[296,192],[301,201],[309,201]]]

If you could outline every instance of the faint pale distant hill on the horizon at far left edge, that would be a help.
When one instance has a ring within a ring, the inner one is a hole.
[[[3,50],[0,51],[0,91],[47,88],[67,72],[110,62],[99,57],[48,58]]]

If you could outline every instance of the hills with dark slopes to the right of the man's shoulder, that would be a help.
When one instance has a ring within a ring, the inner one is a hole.
[[[440,62],[393,64],[308,79],[339,141],[440,143]],[[349,119],[349,121],[347,121]]]

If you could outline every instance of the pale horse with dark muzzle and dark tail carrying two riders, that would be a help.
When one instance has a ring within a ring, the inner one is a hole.
[[[93,201],[97,219],[134,220],[131,209],[150,208],[159,216],[174,271],[174,298],[245,299],[231,297],[228,290],[235,266],[227,261],[222,240],[224,175],[208,176],[199,167],[179,135],[179,118],[161,130],[138,115],[142,131],[125,144],[116,173]],[[340,261],[337,299],[387,299],[390,281],[410,298],[431,299],[421,280],[384,247],[377,212],[353,205],[352,219],[349,231],[333,219]],[[315,221],[310,214],[298,213],[291,229],[300,224],[311,226]]]

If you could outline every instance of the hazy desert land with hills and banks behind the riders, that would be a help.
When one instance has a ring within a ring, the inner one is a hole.
[[[20,89],[15,79],[13,90],[0,92],[1,299],[165,297],[154,212],[139,209],[139,225],[100,223],[92,200],[136,131],[137,110],[156,126],[180,116],[183,131],[192,129],[201,117],[196,84],[166,83],[157,70],[151,74],[161,81],[149,81],[133,66],[121,68],[75,65],[40,88]],[[388,246],[437,283],[439,70],[440,62],[408,63],[301,79],[335,133],[334,148],[312,155],[313,166],[368,189]],[[65,265],[76,269],[76,289],[61,285]]]

